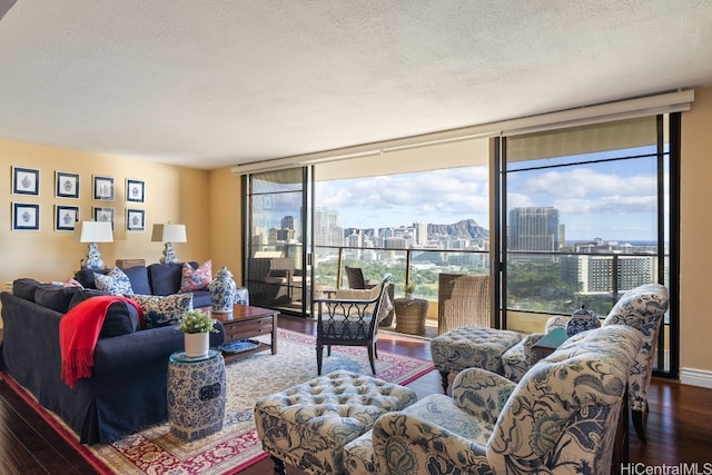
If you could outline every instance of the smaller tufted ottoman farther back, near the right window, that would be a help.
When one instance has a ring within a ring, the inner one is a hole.
[[[441,372],[443,392],[447,392],[447,376],[465,368],[483,368],[504,373],[502,354],[516,345],[522,335],[495,328],[459,327],[431,340],[433,363]]]

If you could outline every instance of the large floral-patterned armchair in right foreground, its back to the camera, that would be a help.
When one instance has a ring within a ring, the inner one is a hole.
[[[611,472],[616,422],[642,335],[612,325],[570,338],[515,384],[471,368],[344,447],[349,474]]]

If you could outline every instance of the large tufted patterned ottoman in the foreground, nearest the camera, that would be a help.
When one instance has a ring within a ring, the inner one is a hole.
[[[416,399],[407,387],[337,370],[257,400],[255,424],[276,474],[286,474],[285,462],[310,474],[340,474],[346,443]]]

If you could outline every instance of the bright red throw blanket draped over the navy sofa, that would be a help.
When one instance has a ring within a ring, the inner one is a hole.
[[[139,305],[118,295],[102,295],[89,298],[59,320],[59,350],[62,358],[61,378],[69,387],[75,387],[79,378],[91,376],[93,349],[107,316],[107,309],[116,301],[131,304],[141,320],[144,311]]]

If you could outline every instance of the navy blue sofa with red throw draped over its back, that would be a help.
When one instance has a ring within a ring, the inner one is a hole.
[[[60,377],[59,321],[97,290],[18,279],[0,294],[3,340],[0,369],[32,393],[85,444],[108,443],[168,417],[168,357],[184,349],[175,326],[139,328],[136,309],[123,301],[109,307],[95,348],[92,376],[69,388]],[[225,328],[210,346],[225,342]]]

